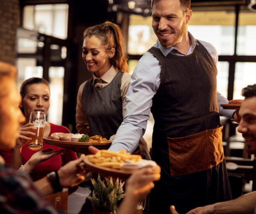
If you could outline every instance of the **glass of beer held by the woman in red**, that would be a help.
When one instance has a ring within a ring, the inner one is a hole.
[[[29,141],[29,149],[30,150],[41,150],[43,148],[42,137],[44,134],[45,127],[45,115],[43,112],[31,112],[29,117],[29,122],[34,123],[34,127],[36,129],[30,130],[34,132],[35,135],[31,135],[32,138]]]

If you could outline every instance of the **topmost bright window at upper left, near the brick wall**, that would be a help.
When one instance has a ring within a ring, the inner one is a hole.
[[[66,39],[68,32],[68,4],[25,6],[23,27],[56,38]]]

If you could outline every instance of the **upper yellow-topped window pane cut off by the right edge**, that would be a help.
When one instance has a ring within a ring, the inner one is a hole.
[[[238,55],[256,55],[256,13],[239,13]]]

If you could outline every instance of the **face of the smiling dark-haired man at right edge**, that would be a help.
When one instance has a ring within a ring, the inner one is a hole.
[[[238,132],[241,132],[246,140],[247,152],[254,154],[256,153],[256,97],[244,99],[239,115],[241,121]]]

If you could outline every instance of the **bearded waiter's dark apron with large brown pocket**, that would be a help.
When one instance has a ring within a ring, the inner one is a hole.
[[[188,56],[166,57],[149,49],[161,64],[161,82],[153,97],[155,124],[152,160],[161,179],[150,195],[150,211],[180,214],[231,199],[217,103],[217,68],[198,41]]]

